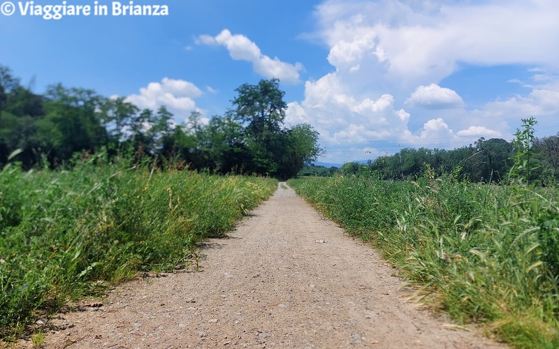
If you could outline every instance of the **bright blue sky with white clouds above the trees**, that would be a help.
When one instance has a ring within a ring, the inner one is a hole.
[[[62,82],[167,105],[179,123],[194,110],[221,115],[241,84],[279,77],[286,124],[314,126],[328,163],[511,140],[531,116],[540,137],[559,131],[555,0],[133,4],[169,15],[0,14],[0,64],[38,93]]]

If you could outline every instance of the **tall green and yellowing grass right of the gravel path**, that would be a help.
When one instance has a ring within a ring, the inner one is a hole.
[[[289,184],[400,267],[418,297],[519,348],[559,348],[557,188],[365,177]]]

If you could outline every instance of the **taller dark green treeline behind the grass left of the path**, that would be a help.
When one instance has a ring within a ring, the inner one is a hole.
[[[0,166],[15,158],[24,169],[57,168],[80,152],[172,158],[194,170],[293,177],[321,149],[307,124],[284,127],[286,103],[279,80],[243,84],[224,116],[209,123],[192,112],[175,124],[164,106],[140,108],[124,97],[55,84],[45,94],[24,87],[0,65]]]

